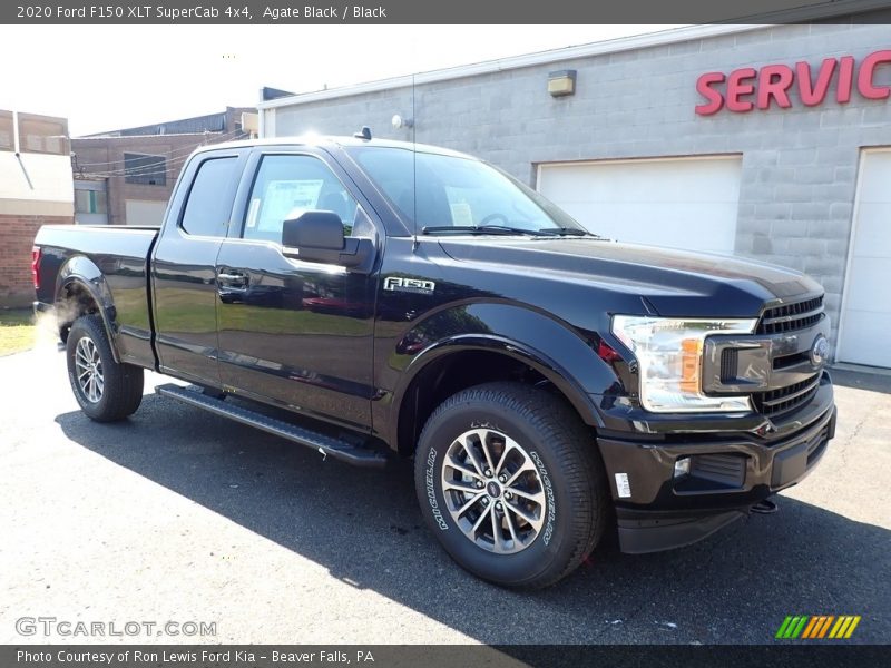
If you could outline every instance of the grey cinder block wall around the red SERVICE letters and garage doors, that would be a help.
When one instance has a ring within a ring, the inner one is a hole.
[[[282,107],[274,134],[351,135],[369,125],[376,137],[474,154],[529,184],[539,163],[741,154],[735,252],[814,276],[826,289],[834,330],[860,149],[891,145],[891,102],[854,90],[846,105],[831,92],[821,106],[804,107],[793,87],[791,109],[699,117],[696,79],[800,60],[815,71],[824,58],[859,61],[889,47],[887,24],[764,27],[438,81],[414,96],[408,87]],[[578,71],[575,96],[547,94],[548,72],[558,69]],[[891,84],[891,68],[879,68],[875,82]],[[413,116],[414,129],[394,130],[394,114]]]

